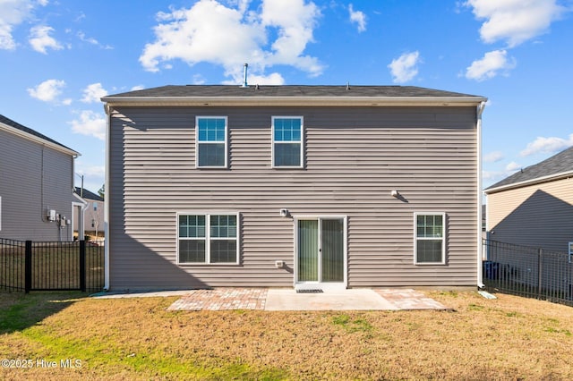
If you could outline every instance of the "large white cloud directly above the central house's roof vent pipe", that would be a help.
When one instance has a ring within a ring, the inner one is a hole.
[[[241,83],[243,64],[249,63],[250,80],[258,75],[277,80],[279,74],[265,75],[277,64],[296,67],[312,76],[324,70],[316,57],[304,55],[312,42],[312,32],[321,13],[304,0],[262,0],[257,11],[247,9],[249,2],[200,0],[190,9],[171,9],[158,13],[155,41],[147,44],[140,56],[143,68],[158,72],[174,60],[189,65],[199,62],[218,64],[233,83]],[[276,36],[269,41],[269,36]],[[262,83],[261,83],[262,84]]]

